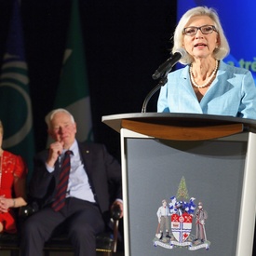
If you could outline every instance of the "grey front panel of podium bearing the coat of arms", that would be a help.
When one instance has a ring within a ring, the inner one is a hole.
[[[124,137],[125,254],[236,255],[247,147]],[[163,200],[168,217],[158,218]],[[195,218],[199,202],[204,223]]]

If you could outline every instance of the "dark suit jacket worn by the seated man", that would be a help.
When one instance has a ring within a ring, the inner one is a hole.
[[[120,164],[103,144],[78,142],[78,147],[95,200],[106,220],[115,198],[122,198]],[[45,150],[34,156],[34,172],[29,185],[29,198],[37,202],[39,209],[53,201],[61,169],[57,161],[55,170],[49,173],[45,164],[47,155],[48,150]]]

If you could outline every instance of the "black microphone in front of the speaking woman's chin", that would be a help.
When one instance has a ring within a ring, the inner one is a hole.
[[[187,52],[184,48],[177,49],[177,51],[170,58],[168,58],[167,61],[161,64],[157,70],[155,70],[152,78],[155,80],[161,77],[163,74],[168,74],[171,71],[172,67],[183,57],[185,57],[186,54]]]

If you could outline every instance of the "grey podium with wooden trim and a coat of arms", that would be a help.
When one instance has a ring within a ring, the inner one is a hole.
[[[140,113],[102,122],[121,137],[126,256],[252,254],[256,120]],[[208,218],[195,224],[199,202]]]

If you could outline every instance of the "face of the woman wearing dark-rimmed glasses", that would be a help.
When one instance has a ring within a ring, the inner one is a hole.
[[[187,27],[201,27],[213,25],[214,22],[209,16],[195,16],[186,24]],[[212,53],[219,44],[219,34],[213,31],[210,34],[203,34],[199,29],[196,34],[183,34],[183,47],[195,59],[203,59],[212,56]]]

